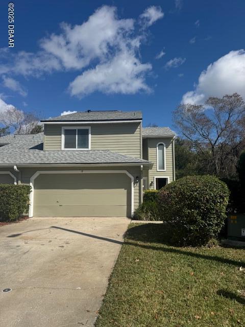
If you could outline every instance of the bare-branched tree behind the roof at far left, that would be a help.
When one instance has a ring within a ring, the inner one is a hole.
[[[39,118],[34,112],[26,113],[12,107],[0,113],[0,123],[8,126],[15,134],[30,134],[39,124]]]

